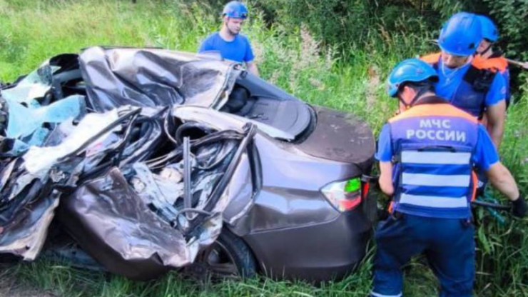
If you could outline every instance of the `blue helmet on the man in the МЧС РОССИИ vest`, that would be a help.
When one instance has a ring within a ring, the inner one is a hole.
[[[438,81],[438,74],[431,65],[420,59],[407,59],[397,64],[387,78],[387,93],[395,97],[406,82]]]

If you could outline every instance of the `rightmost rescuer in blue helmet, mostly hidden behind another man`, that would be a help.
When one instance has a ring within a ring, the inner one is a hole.
[[[494,48],[494,43],[499,39],[499,29],[494,22],[487,16],[478,16],[480,26],[482,27],[482,41],[477,47],[477,56],[475,63],[482,65],[482,68],[494,69],[504,76],[506,81],[506,105],[509,105],[511,93],[509,91],[509,69],[508,61],[504,58],[502,51]]]

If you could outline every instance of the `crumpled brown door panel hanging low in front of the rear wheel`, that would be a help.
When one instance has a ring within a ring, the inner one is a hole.
[[[109,271],[133,279],[159,276],[192,263],[198,242],[187,243],[128,186],[118,168],[79,187],[61,203],[64,226]]]

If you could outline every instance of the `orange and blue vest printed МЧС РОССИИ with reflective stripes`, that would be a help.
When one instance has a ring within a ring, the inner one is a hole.
[[[478,122],[439,97],[389,120],[395,156],[392,211],[435,218],[469,218],[477,179],[472,154]]]

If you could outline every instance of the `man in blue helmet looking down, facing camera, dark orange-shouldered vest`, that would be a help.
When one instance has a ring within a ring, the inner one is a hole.
[[[460,12],[442,27],[438,38],[441,52],[422,57],[437,71],[437,95],[472,114],[487,117],[487,130],[496,148],[504,134],[507,83],[497,70],[474,59],[482,41],[482,26],[475,14]]]

